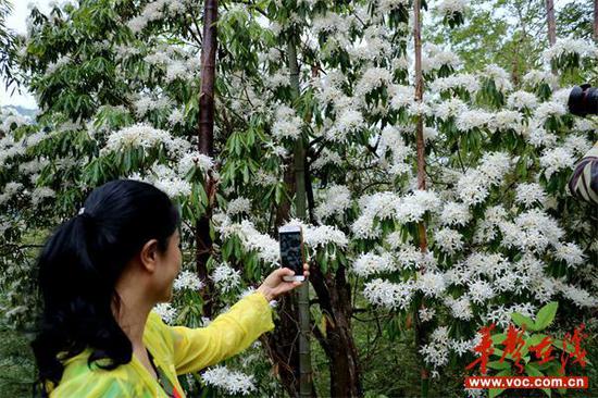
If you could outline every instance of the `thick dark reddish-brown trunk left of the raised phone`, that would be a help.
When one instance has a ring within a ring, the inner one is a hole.
[[[214,79],[217,48],[217,0],[205,0],[203,13],[203,46],[201,47],[201,89],[199,95],[200,153],[214,157]],[[196,223],[196,266],[199,278],[205,284],[201,291],[203,315],[212,318],[214,287],[208,277],[208,260],[212,253],[210,220],[215,203],[215,182],[207,176],[204,190],[208,196],[205,213]]]

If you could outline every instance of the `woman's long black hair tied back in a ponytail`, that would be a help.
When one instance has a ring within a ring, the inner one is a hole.
[[[38,259],[43,309],[32,343],[42,395],[46,383],[62,378],[61,361],[86,348],[89,366],[108,359],[96,364],[112,370],[132,360],[132,343],[112,312],[121,304],[116,281],[148,240],[164,252],[179,217],[163,191],[119,179],[94,189],[79,214],[49,238]]]

